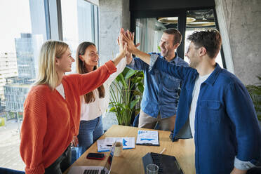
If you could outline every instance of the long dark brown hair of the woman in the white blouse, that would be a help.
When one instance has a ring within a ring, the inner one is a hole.
[[[85,67],[85,62],[83,62],[80,59],[80,55],[84,55],[86,48],[88,46],[95,46],[92,42],[84,41],[83,43],[79,44],[77,51],[76,51],[76,70],[79,74],[86,74],[88,73],[88,70]],[[93,67],[93,71],[97,69],[97,66]],[[103,84],[98,87],[98,92],[99,92],[99,98],[105,98],[105,87]],[[86,103],[94,102],[95,101],[95,95],[93,91],[90,93],[87,93],[86,95],[83,95],[83,98]]]

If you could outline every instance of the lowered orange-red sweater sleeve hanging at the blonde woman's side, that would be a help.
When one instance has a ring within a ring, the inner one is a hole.
[[[21,128],[20,154],[25,162],[25,173],[44,173],[43,149],[46,134],[46,102],[37,88],[32,88],[24,105]]]

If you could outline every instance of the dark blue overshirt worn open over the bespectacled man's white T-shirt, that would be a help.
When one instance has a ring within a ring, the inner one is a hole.
[[[173,140],[192,138],[189,107],[199,74],[156,57],[151,55],[152,72],[159,69],[183,81]],[[194,142],[196,173],[230,173],[234,166],[247,170],[260,160],[261,132],[250,95],[234,74],[218,64],[200,87]]]

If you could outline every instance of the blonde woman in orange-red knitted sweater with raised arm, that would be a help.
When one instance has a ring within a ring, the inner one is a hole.
[[[46,41],[39,56],[39,78],[25,100],[20,154],[25,173],[62,173],[71,161],[70,143],[78,135],[80,96],[98,88],[126,54],[120,53],[88,74],[70,74],[72,58],[62,41]]]

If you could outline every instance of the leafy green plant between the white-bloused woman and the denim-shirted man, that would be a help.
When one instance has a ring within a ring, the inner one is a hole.
[[[144,90],[144,74],[126,67],[116,77],[110,86],[109,112],[114,112],[119,125],[130,126],[131,116],[140,112],[140,105],[136,107],[142,98]]]

